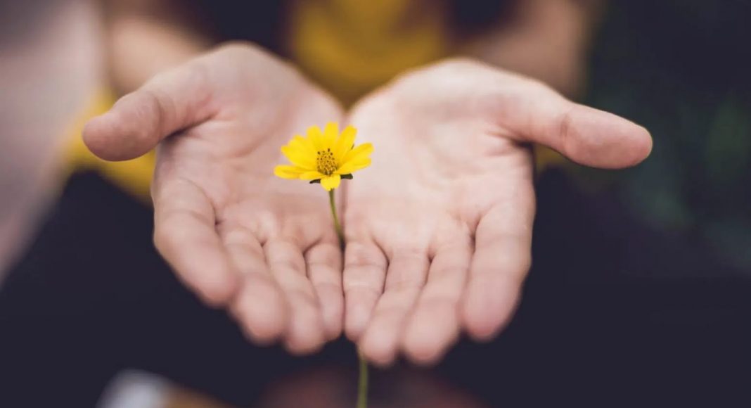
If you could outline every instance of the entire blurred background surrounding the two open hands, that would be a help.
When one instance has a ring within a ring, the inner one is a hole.
[[[0,1],[0,406],[351,406],[353,346],[247,343],[153,249],[153,156],[100,162],[80,140],[117,96],[231,39],[344,104],[469,55],[653,134],[628,171],[535,148],[514,321],[434,369],[376,371],[372,406],[749,406],[749,17],[744,0]]]

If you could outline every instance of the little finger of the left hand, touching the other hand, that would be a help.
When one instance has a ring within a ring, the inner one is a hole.
[[[342,295],[342,250],[336,243],[319,243],[305,254],[308,277],[321,304],[328,340],[342,334],[344,296]]]

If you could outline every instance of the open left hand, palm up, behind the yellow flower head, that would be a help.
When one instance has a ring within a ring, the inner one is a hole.
[[[273,168],[293,134],[341,116],[288,65],[235,44],[154,77],[83,137],[107,160],[160,144],[152,198],[161,255],[253,340],[303,353],[341,332],[341,251],[321,188]]]

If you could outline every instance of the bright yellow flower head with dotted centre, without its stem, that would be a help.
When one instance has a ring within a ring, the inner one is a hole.
[[[351,179],[354,171],[370,165],[372,144],[354,147],[355,134],[357,129],[352,126],[339,134],[336,122],[328,122],[322,133],[318,126],[311,126],[305,138],[298,134],[282,147],[292,165],[276,166],[274,174],[283,179],[321,183],[326,191],[336,189],[342,178]]]

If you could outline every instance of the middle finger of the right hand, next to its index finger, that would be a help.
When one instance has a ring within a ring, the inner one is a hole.
[[[457,237],[436,252],[430,263],[427,283],[409,317],[402,348],[418,364],[433,364],[460,333],[460,300],[464,292],[472,239]]]

